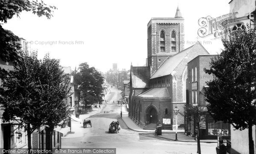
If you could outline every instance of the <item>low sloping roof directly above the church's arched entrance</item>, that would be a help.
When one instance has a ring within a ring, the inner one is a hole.
[[[171,97],[168,88],[150,88],[138,95],[139,97]]]

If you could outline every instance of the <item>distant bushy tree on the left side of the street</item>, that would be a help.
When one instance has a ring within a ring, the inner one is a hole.
[[[76,74],[76,84],[78,86],[80,100],[87,104],[102,102],[104,77],[94,67],[89,67],[87,63],[79,65],[79,72]]]

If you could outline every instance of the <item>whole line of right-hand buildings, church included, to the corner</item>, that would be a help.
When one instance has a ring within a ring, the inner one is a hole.
[[[235,31],[245,28],[247,24],[254,28],[256,23],[255,0],[231,0],[229,4],[230,14],[235,16],[221,23],[221,34],[226,39],[228,29]],[[212,26],[209,27],[212,31],[217,28],[216,25],[209,26]],[[179,8],[173,18],[151,18],[147,29],[147,66],[131,65],[130,81],[124,82],[125,95],[129,96],[129,117],[144,129],[160,124],[163,129],[172,130],[175,126],[175,107],[183,112],[185,104],[207,106],[204,92],[206,82],[212,80],[212,75],[206,74],[204,68],[209,68],[211,59],[218,55],[209,54],[199,41],[184,49],[184,18]],[[196,125],[189,118],[178,114],[177,125],[184,129],[184,133],[195,134]],[[247,129],[234,130],[228,123],[215,122],[210,115],[207,115],[200,129],[202,139],[231,135],[231,153],[249,153]]]

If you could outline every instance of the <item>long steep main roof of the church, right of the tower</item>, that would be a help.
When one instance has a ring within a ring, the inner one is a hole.
[[[197,43],[195,43],[195,45],[190,46],[189,48],[186,48],[183,51],[180,51],[179,53],[173,55],[172,57],[169,57],[157,69],[157,71],[152,75],[152,77],[150,79],[154,79],[154,78],[157,78],[157,77],[162,77],[162,76],[166,76],[166,75],[172,74],[172,71],[175,70],[175,68],[180,64],[180,62],[184,58],[187,58],[187,55],[189,54],[189,52],[194,51],[193,48],[195,48],[195,50],[197,50],[198,47],[203,49],[203,50],[205,50],[207,52],[207,50],[201,45],[201,43],[197,42]]]

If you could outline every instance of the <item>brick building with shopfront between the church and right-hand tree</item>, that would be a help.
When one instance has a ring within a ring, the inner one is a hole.
[[[188,95],[187,104],[207,106],[205,101],[206,82],[213,79],[212,74],[206,74],[204,68],[209,69],[211,58],[218,55],[198,55],[188,63]],[[201,139],[217,139],[218,135],[229,134],[230,124],[214,121],[210,115],[206,116],[205,125],[200,128]],[[195,123],[186,119],[186,131],[194,134]]]

